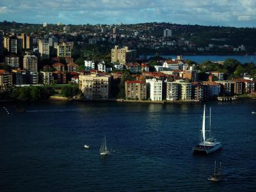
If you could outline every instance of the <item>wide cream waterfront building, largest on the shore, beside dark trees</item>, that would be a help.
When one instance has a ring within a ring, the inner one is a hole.
[[[79,88],[85,99],[109,99],[111,76],[90,74],[79,76]]]

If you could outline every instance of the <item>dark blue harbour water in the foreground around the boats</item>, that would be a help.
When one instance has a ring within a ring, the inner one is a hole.
[[[0,103],[0,191],[255,191],[256,99],[210,106],[223,150],[195,156],[203,104]]]

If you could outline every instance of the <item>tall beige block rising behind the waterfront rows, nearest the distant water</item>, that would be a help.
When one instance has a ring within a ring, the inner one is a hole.
[[[114,49],[111,49],[111,61],[119,63],[130,63],[136,61],[136,50],[129,50],[128,47],[119,48],[115,45]]]

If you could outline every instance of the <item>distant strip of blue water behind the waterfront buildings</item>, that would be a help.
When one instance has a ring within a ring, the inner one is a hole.
[[[152,57],[154,55],[148,55],[147,59]],[[140,56],[141,58],[143,58],[143,56]],[[177,58],[176,55],[163,55],[164,58]],[[227,58],[232,58],[235,59],[237,61],[239,61],[240,63],[250,63],[253,62],[256,64],[256,56],[255,55],[248,55],[248,56],[241,56],[241,55],[184,55],[182,56],[183,59],[185,60],[192,60],[195,61],[197,63],[202,63],[205,60],[209,60],[209,61],[225,61]]]

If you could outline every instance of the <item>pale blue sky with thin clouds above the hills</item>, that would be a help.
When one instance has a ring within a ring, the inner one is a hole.
[[[0,0],[0,21],[256,27],[256,0]]]

